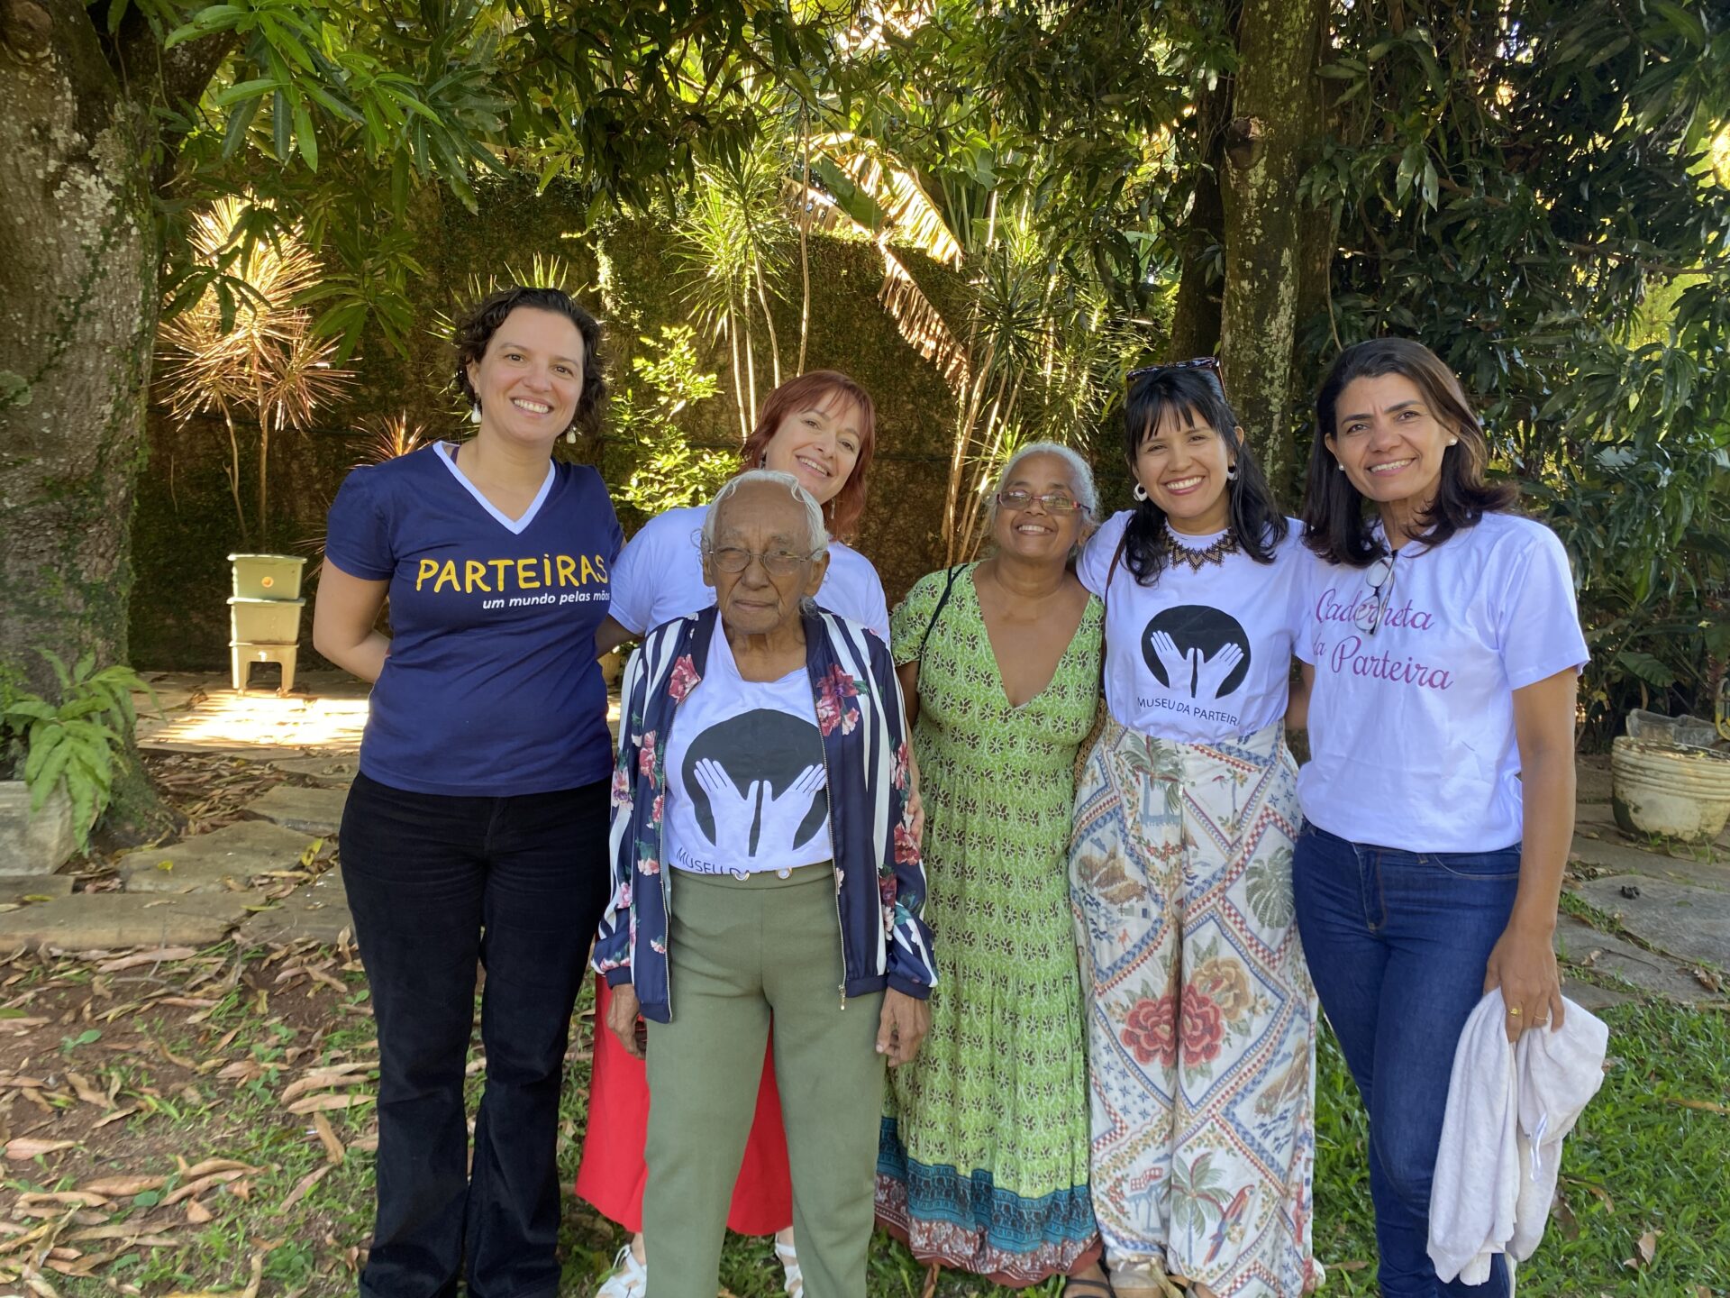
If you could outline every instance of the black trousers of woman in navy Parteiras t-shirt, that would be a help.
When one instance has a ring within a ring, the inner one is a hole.
[[[355,777],[343,879],[379,1028],[379,1211],[360,1291],[559,1288],[555,1142],[571,1011],[607,898],[607,782],[453,798]],[[486,1090],[462,1101],[476,964]]]

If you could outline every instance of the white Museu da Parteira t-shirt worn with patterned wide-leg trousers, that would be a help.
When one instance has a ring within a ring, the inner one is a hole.
[[[1227,554],[1192,569],[1169,559],[1152,585],[1112,557],[1130,512],[1114,514],[1081,550],[1076,575],[1105,601],[1105,703],[1119,723],[1190,744],[1254,734],[1285,715],[1299,573],[1313,559],[1301,524],[1259,564]],[[1204,550],[1208,537],[1171,533]],[[1109,587],[1107,587],[1109,576]]]

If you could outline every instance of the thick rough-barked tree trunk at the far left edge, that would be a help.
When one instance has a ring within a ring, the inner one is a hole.
[[[126,661],[128,531],[156,331],[151,114],[85,9],[0,31],[0,659]]]

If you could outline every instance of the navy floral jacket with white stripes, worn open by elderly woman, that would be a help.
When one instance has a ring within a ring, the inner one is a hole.
[[[843,997],[891,986],[927,997],[938,981],[920,919],[926,872],[907,815],[908,753],[901,685],[887,647],[856,621],[804,614],[804,668],[829,774]],[[595,969],[633,983],[644,1018],[668,1023],[668,914],[663,869],[666,746],[678,706],[702,680],[718,609],[649,632],[625,670],[619,756],[612,772],[612,896],[595,938]]]

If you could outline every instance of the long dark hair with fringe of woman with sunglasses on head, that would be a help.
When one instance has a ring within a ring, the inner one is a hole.
[[[1273,562],[1273,550],[1285,540],[1291,524],[1273,500],[1273,490],[1249,443],[1237,440],[1237,415],[1225,400],[1225,389],[1208,370],[1154,369],[1130,382],[1130,395],[1123,403],[1123,453],[1130,462],[1130,474],[1135,474],[1142,443],[1159,427],[1168,410],[1185,427],[1213,426],[1227,448],[1235,452],[1237,478],[1225,485],[1232,533],[1244,554],[1258,564]],[[1150,587],[1159,580],[1166,566],[1166,511],[1150,498],[1142,500],[1130,514],[1130,526],[1123,530],[1123,566],[1140,585]]]

